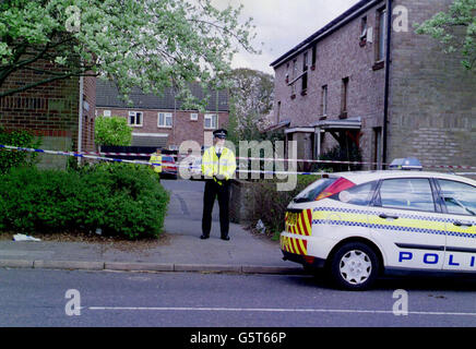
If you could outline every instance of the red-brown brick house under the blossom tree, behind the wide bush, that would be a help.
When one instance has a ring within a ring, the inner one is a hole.
[[[58,67],[45,60],[29,67],[59,71]],[[1,91],[39,82],[45,79],[44,74],[31,69],[16,71],[8,77]],[[40,136],[44,149],[94,151],[95,88],[96,77],[73,76],[2,97],[0,125],[7,131],[27,130]],[[81,142],[78,142],[80,136]],[[64,156],[39,154],[39,167],[64,168],[66,164]]]

